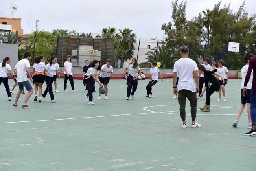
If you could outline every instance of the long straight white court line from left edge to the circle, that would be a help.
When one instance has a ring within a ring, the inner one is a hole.
[[[89,116],[89,117],[81,117],[81,118],[63,118],[63,119],[53,119],[53,120],[34,120],[34,121],[0,122],[0,124],[5,124],[5,123],[42,122],[42,121],[58,121],[58,120],[76,120],[76,119],[103,118],[103,117],[111,117],[111,116],[127,116],[127,115],[152,114],[152,113],[158,113],[158,112],[134,113],[134,114],[117,114],[117,115],[105,115],[105,116]]]

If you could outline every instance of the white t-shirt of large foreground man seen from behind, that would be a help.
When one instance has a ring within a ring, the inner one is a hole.
[[[193,71],[197,70],[197,63],[190,58],[180,58],[174,63],[173,72],[179,73],[178,90],[196,91]]]

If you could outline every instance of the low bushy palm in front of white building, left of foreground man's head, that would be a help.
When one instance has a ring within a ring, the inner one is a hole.
[[[155,60],[156,50],[157,50],[157,60]],[[168,46],[158,46],[158,49],[155,47],[146,53],[147,62],[141,63],[140,67],[150,68],[150,63],[157,61],[157,62],[161,62],[160,68],[164,68],[164,69],[172,68],[173,66],[173,64],[171,64],[172,52],[173,50],[171,50]],[[175,63],[177,59],[179,59],[179,54],[175,52],[173,55],[173,63]]]

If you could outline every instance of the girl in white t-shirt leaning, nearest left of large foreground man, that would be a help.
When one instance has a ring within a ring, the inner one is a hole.
[[[159,71],[159,68],[155,66],[155,63],[150,63],[151,69],[150,69],[150,80],[149,83],[146,86],[147,90],[147,96],[151,98],[152,97],[152,86],[157,84],[158,82],[158,74],[160,74],[161,80],[163,81],[162,74]]]

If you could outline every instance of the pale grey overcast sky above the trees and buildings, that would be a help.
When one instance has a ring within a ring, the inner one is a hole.
[[[222,0],[221,6],[231,0]],[[10,0],[0,4],[0,17],[12,17],[11,4],[18,5],[14,18],[22,18],[25,33],[38,29],[74,29],[77,32],[100,33],[103,28],[129,28],[137,37],[163,38],[161,26],[172,21],[171,0]],[[182,0],[178,1],[179,3]],[[219,0],[188,0],[186,17],[188,20],[202,10],[213,9]],[[254,0],[245,0],[249,15],[255,12]],[[243,0],[232,0],[231,9],[237,11]],[[2,12],[1,12],[2,11]]]

